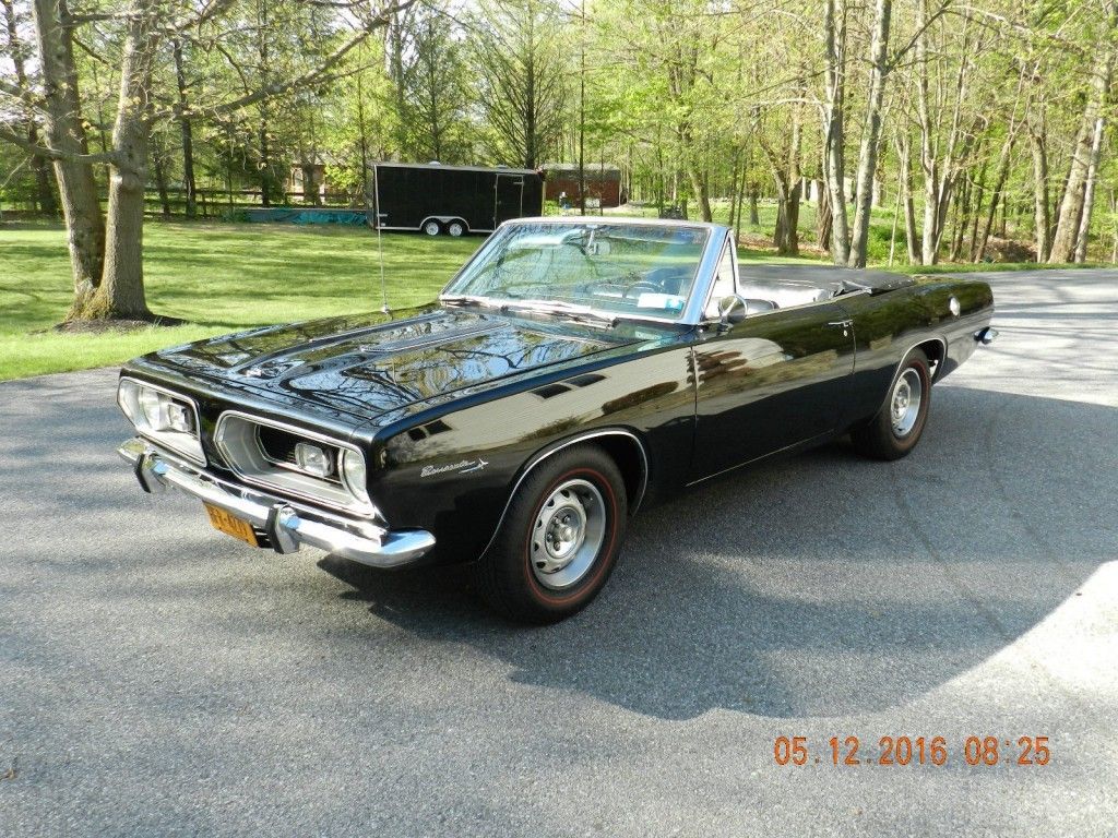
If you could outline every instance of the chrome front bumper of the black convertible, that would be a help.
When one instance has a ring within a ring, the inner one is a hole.
[[[435,546],[435,536],[423,530],[392,532],[370,521],[333,515],[222,480],[139,437],[122,445],[117,454],[132,465],[144,492],[173,487],[225,510],[264,533],[277,553],[293,553],[307,544],[373,568],[399,568]]]

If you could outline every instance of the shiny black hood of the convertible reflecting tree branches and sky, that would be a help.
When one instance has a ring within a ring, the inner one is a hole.
[[[177,346],[148,360],[269,400],[362,419],[627,343],[567,322],[454,308],[269,326]]]

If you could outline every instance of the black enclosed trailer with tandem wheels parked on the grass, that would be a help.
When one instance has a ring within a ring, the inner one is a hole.
[[[530,169],[375,163],[371,216],[382,230],[428,236],[492,232],[543,210],[543,178]]]

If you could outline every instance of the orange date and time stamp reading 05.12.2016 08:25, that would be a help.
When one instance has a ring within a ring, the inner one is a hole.
[[[777,736],[773,743],[777,765],[1048,765],[1052,759],[1048,736],[831,736],[825,742],[807,736]]]

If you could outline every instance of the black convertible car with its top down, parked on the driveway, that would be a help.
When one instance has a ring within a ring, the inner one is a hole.
[[[847,432],[908,454],[992,313],[980,282],[739,266],[716,225],[521,219],[433,305],[130,362],[120,450],[249,544],[472,562],[547,622],[601,589],[638,507]]]

